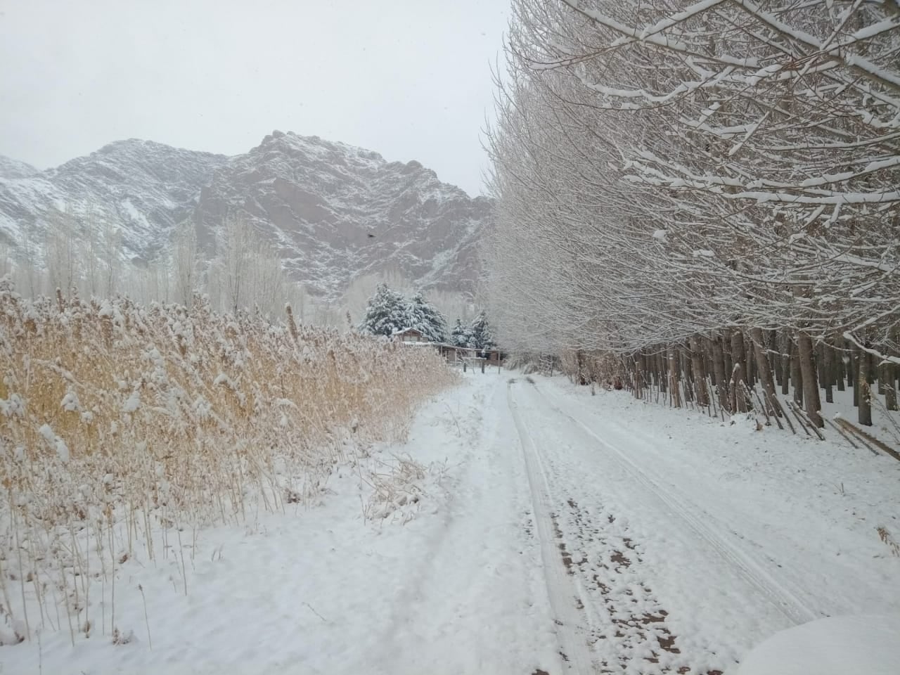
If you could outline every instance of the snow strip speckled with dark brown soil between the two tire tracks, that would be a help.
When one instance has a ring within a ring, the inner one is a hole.
[[[595,514],[571,497],[554,495],[552,486],[564,483],[564,477],[542,456],[542,449],[518,415],[511,390],[509,398],[526,460],[535,467],[536,510],[549,514],[545,518],[549,527],[538,528],[538,535],[545,568],[553,575],[548,577],[547,588],[554,612],[557,617],[568,617],[557,622],[563,653],[567,640],[572,644],[577,639],[578,646],[586,648],[590,670],[581,672],[722,675],[721,671],[696,668],[691,655],[681,653],[677,636],[666,625],[669,613],[646,579],[642,554],[628,527],[614,527],[615,516],[602,506],[594,509]],[[542,504],[543,500],[554,508]],[[558,578],[561,560],[566,575],[562,580]],[[568,626],[576,629],[566,631]],[[574,671],[571,662],[566,665]]]

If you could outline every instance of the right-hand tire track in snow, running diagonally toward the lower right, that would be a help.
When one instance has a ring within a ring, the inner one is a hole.
[[[552,399],[555,399],[553,395],[543,392],[536,385],[535,391],[546,401],[549,408],[571,421],[577,428],[581,428],[585,434],[594,439],[600,446],[606,448],[608,455],[612,456],[625,473],[641,485],[644,490],[660,500],[667,509],[671,510],[671,513],[680,518],[699,539],[708,545],[729,567],[734,569],[753,589],[757,590],[762,597],[767,599],[783,616],[787,617],[794,624],[802,624],[812,619],[820,618],[815,611],[806,607],[806,604],[795,593],[779,583],[761,564],[729,543],[725,536],[716,533],[713,528],[708,527],[703,520],[708,515],[702,509],[690,506],[688,500],[677,495],[675,491],[663,487],[660,482],[654,480],[640,466],[635,464],[620,447],[600,437],[597,432],[581,421],[581,419],[573,417],[555,405],[552,402]]]

